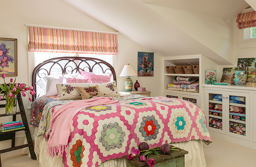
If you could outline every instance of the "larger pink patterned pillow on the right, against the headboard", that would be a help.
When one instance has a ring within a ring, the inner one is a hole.
[[[111,80],[111,74],[96,74],[96,73],[90,73],[90,72],[85,72],[81,71],[80,72],[82,75],[82,78],[89,78],[88,83],[107,83],[110,82]]]

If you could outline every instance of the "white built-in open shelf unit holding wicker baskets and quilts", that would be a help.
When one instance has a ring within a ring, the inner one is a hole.
[[[170,74],[167,73],[166,66],[189,66],[199,65],[199,74]],[[205,70],[217,70],[217,65],[204,57],[203,55],[174,56],[163,58],[163,95],[165,97],[180,98],[185,100],[196,101],[196,104],[203,108],[204,106],[204,89]],[[197,77],[199,78],[199,93],[182,92],[167,90],[167,85],[171,84],[175,76]]]

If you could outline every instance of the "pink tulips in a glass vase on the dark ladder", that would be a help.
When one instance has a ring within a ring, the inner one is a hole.
[[[10,79],[10,82],[7,84],[5,82],[5,74],[2,74],[2,78],[4,79],[4,84],[0,84],[0,88],[1,88],[1,92],[2,93],[4,91],[4,95],[3,97],[6,98],[6,106],[5,106],[5,114],[11,115],[11,114],[15,114],[16,112],[14,112],[12,110],[13,107],[15,107],[15,99],[16,99],[16,95],[18,93],[21,93],[22,96],[26,96],[26,94],[28,94],[26,91],[29,91],[29,93],[31,95],[35,94],[35,91],[33,90],[32,86],[29,86],[27,84],[18,84],[16,83],[16,78]],[[29,95],[29,94],[28,94]],[[0,95],[0,99],[1,99],[1,95]],[[32,101],[32,97],[30,97],[29,95],[29,100]]]

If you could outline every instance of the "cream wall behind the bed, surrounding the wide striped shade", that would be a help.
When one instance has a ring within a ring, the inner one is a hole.
[[[2,6],[0,15],[2,16],[2,24],[0,28],[0,37],[3,38],[17,38],[18,39],[18,76],[16,77],[19,83],[29,83],[29,76],[32,72],[28,71],[28,28],[25,24],[65,27],[93,31],[110,31],[116,32],[112,28],[95,20],[94,18],[84,14],[83,12],[68,5],[62,0],[0,0]],[[123,66],[129,62],[137,70],[137,52],[150,52],[144,47],[124,37],[122,34],[117,35],[118,50],[117,55],[117,89],[124,90],[124,77],[119,77]],[[155,76],[154,77],[131,77],[136,82],[138,78],[141,86],[146,87],[147,90],[152,91],[152,95],[161,95],[161,68],[162,59],[155,54],[154,57]],[[9,80],[11,77],[7,77]],[[0,83],[3,79],[0,78]],[[30,123],[28,97],[23,97],[24,107],[27,113],[28,122]],[[0,110],[4,113],[4,110]],[[17,119],[21,119],[17,116]],[[1,117],[0,122],[11,121],[11,117]],[[23,135],[23,132],[16,133]],[[5,146],[2,145],[4,143]],[[2,147],[10,147],[11,142],[0,142],[0,149]]]

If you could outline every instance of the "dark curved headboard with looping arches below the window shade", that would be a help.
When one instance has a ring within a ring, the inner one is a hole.
[[[48,70],[46,69],[48,68]],[[56,70],[58,68],[58,71]],[[106,61],[91,58],[91,57],[56,57],[46,60],[38,64],[32,73],[32,86],[36,92],[36,82],[46,75],[63,75],[75,74],[80,71],[95,72],[100,70],[102,73],[111,73],[112,79],[116,81],[117,76],[114,68]],[[37,94],[32,95],[32,100],[35,100]]]

